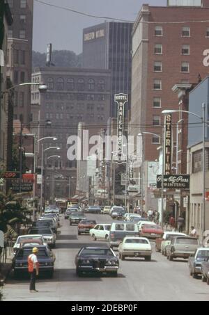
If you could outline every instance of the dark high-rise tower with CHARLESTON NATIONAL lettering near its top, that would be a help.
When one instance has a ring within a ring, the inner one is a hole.
[[[132,23],[105,22],[84,29],[83,67],[111,70],[111,117],[116,117],[114,95],[131,96]]]

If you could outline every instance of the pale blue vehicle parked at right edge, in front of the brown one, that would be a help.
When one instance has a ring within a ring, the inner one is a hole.
[[[201,275],[202,263],[208,258],[209,248],[198,248],[194,255],[189,257],[189,273],[192,277],[196,278],[197,275]]]

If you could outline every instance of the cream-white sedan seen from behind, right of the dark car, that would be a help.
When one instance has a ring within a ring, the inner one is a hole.
[[[144,237],[127,236],[118,247],[119,258],[142,257],[146,261],[151,261],[152,247],[150,241]]]

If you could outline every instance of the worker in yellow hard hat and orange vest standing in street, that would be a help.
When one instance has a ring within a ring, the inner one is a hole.
[[[28,257],[28,265],[29,265],[29,274],[31,276],[31,282],[30,282],[30,292],[38,292],[36,290],[36,277],[39,273],[39,264],[38,264],[38,248],[33,248],[32,254]]]

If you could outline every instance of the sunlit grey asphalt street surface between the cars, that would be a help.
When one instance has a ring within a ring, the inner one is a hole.
[[[98,223],[110,223],[109,216],[93,216]],[[153,250],[153,259],[120,261],[118,277],[107,275],[77,277],[75,255],[82,245],[107,245],[78,236],[77,227],[70,227],[61,218],[53,279],[38,280],[38,293],[29,292],[28,280],[14,280],[13,273],[3,288],[6,301],[208,301],[209,286],[189,277],[187,261],[168,261]],[[117,252],[116,252],[117,253]]]

